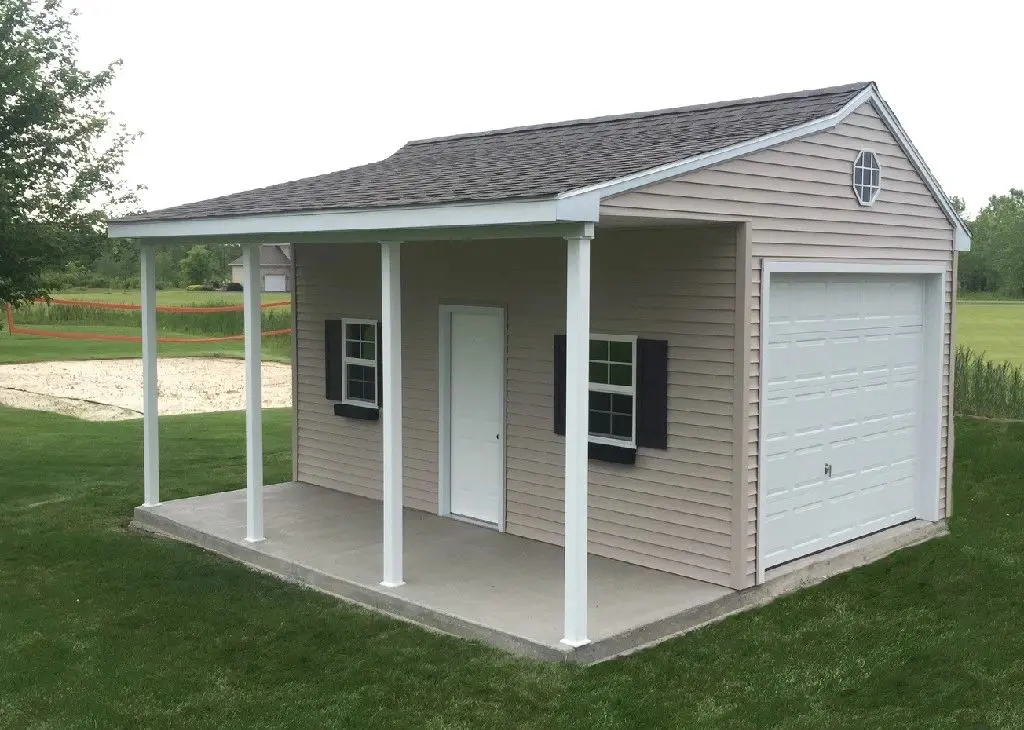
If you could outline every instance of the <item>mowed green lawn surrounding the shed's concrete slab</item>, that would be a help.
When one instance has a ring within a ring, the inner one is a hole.
[[[268,481],[289,424],[265,416]],[[959,424],[950,536],[592,668],[128,531],[140,422],[0,409],[0,433],[3,727],[1024,726],[1022,425]],[[162,419],[161,450],[166,499],[241,487],[244,417]]]

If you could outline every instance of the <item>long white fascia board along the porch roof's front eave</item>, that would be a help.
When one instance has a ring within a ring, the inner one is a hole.
[[[319,211],[188,220],[111,221],[112,239],[231,237],[597,222],[600,199],[514,201],[380,210]]]

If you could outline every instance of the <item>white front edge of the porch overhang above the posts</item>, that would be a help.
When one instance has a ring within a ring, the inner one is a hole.
[[[171,220],[112,220],[112,239],[234,243],[360,243],[556,237],[597,222],[598,195],[379,210],[335,210]]]

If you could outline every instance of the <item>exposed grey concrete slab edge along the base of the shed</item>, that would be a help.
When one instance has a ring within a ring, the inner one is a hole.
[[[814,586],[834,575],[879,560],[897,550],[948,532],[945,522],[914,521],[898,525],[769,571],[765,583],[760,586],[737,591],[702,606],[584,646],[554,648],[436,611],[388,593],[388,589],[379,586],[364,586],[328,575],[323,571],[268,555],[253,546],[201,532],[176,520],[155,514],[146,508],[135,509],[131,524],[145,532],[195,545],[256,570],[411,621],[428,630],[481,641],[520,656],[544,661],[568,660],[583,664],[605,661],[659,644],[726,616],[765,605],[780,596]]]

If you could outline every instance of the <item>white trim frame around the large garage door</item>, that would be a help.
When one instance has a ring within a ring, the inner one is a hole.
[[[757,538],[755,560],[757,584],[765,582],[764,557],[761,554],[761,515],[764,514],[764,493],[761,475],[764,474],[765,429],[761,419],[765,413],[765,362],[768,352],[768,323],[771,304],[771,277],[773,273],[862,273],[902,274],[920,276],[925,283],[925,324],[924,349],[926,361],[922,369],[924,382],[921,407],[921,478],[914,495],[916,518],[936,522],[939,519],[939,498],[941,497],[942,468],[942,377],[945,370],[945,285],[949,275],[944,263],[921,264],[873,264],[844,261],[779,261],[762,259],[761,262],[761,327],[759,332],[760,352],[758,369],[758,481],[757,481]],[[955,303],[952,304],[955,306]],[[950,356],[952,354],[950,353]],[[929,364],[928,359],[933,361]],[[949,378],[951,379],[950,368]],[[950,419],[952,414],[950,414]],[[928,428],[929,421],[935,428]]]

